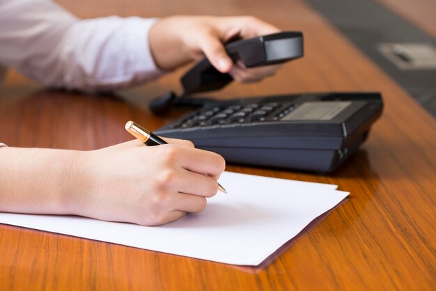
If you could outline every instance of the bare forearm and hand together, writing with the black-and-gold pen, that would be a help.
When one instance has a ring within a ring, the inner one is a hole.
[[[1,148],[0,211],[75,214],[155,226],[201,212],[224,159],[191,142],[101,150]],[[207,174],[207,175],[206,175]]]

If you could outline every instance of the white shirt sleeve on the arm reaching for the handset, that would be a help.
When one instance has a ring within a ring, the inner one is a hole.
[[[158,77],[155,19],[78,19],[50,0],[0,0],[0,64],[45,86],[107,91]]]

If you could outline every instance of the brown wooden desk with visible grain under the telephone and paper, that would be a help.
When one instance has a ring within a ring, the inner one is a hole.
[[[61,3],[81,17],[256,15],[304,31],[304,59],[260,84],[234,84],[215,95],[381,91],[385,110],[364,147],[332,175],[228,165],[228,171],[334,183],[351,192],[264,269],[1,225],[1,290],[434,290],[436,122],[317,13],[281,0]],[[179,88],[181,73],[120,98],[41,91],[10,73],[0,96],[0,141],[91,150],[131,139],[126,120],[151,129],[169,121],[152,116],[147,102]]]

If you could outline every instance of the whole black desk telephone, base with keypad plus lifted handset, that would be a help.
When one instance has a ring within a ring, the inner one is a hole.
[[[299,32],[274,33],[226,45],[233,61],[247,67],[281,63],[303,55]],[[189,139],[227,162],[334,171],[366,140],[382,112],[379,93],[306,93],[216,101],[187,94],[216,90],[231,82],[203,59],[182,77],[185,94],[170,93],[150,104],[156,112],[194,106],[155,133]]]

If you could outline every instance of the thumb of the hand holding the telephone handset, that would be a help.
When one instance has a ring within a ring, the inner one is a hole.
[[[211,34],[203,36],[200,49],[219,72],[226,73],[231,70],[233,62],[219,38]]]

